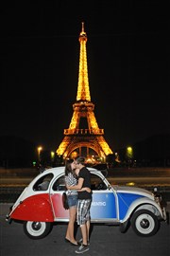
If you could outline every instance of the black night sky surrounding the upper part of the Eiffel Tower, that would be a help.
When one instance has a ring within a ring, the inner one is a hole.
[[[1,137],[57,150],[76,102],[81,22],[94,114],[112,151],[170,133],[163,2],[13,2],[0,10]]]

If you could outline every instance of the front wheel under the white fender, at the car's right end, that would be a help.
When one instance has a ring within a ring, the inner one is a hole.
[[[152,236],[160,228],[160,222],[150,210],[138,210],[131,218],[131,227],[139,236]]]

